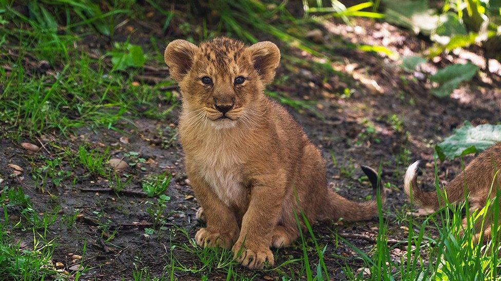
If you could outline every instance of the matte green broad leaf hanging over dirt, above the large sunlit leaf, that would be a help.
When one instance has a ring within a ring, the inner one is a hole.
[[[430,77],[432,82],[440,84],[438,88],[432,89],[433,95],[442,98],[449,96],[460,82],[468,81],[475,76],[478,67],[468,62],[466,64],[453,64],[437,71]]]

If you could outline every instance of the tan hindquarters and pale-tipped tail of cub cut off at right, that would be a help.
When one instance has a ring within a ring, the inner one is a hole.
[[[417,169],[419,161],[413,163],[407,169],[404,177],[404,190],[411,202],[421,207],[436,210],[444,206],[443,200],[437,196],[436,191],[423,191],[417,187]],[[483,153],[480,153],[468,164],[464,171],[461,171],[452,181],[445,186],[447,200],[450,203],[464,202],[465,198],[470,201],[470,213],[474,210],[484,208],[489,198],[496,196],[499,189],[500,175],[497,173],[501,168],[501,142],[497,143]],[[496,175],[497,174],[497,175]],[[492,187],[492,188],[491,188]],[[501,201],[500,201],[501,202]],[[501,209],[501,205],[499,206]],[[490,234],[490,218],[486,218],[484,234]],[[464,221],[466,223],[466,219]],[[475,230],[480,230],[478,222]],[[480,233],[477,234],[477,238]]]

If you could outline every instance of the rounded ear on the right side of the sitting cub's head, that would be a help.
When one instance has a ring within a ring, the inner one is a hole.
[[[264,84],[271,83],[275,77],[275,69],[280,62],[280,50],[269,41],[259,42],[245,50],[251,56],[254,69]]]

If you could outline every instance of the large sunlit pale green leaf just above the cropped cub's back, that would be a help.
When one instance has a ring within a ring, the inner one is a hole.
[[[501,125],[472,126],[469,122],[454,130],[452,136],[435,146],[438,158],[453,160],[456,157],[478,153],[501,141]]]

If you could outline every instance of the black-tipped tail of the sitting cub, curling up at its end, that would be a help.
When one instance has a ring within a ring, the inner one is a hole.
[[[379,191],[381,204],[384,205],[386,193],[381,186],[381,179],[378,177],[377,172],[368,166],[362,166],[361,168],[369,178],[374,192],[377,194],[377,191]],[[372,219],[377,215],[377,198],[368,202],[355,202],[340,196],[332,189],[329,189],[328,192],[324,212],[324,216],[328,219],[339,220],[342,218],[344,221],[363,221]]]

